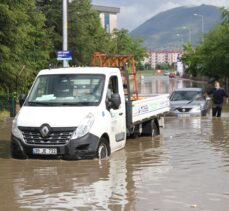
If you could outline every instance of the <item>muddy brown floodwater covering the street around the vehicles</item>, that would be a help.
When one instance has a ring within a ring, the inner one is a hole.
[[[140,90],[165,93],[191,86],[179,81],[145,80]],[[167,117],[159,137],[129,139],[103,161],[14,160],[10,121],[5,121],[0,124],[0,211],[227,211],[228,120],[227,106],[221,118]]]

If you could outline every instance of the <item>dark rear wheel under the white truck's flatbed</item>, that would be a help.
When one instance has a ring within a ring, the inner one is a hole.
[[[160,127],[157,119],[149,120],[142,124],[143,136],[158,136],[160,135]]]

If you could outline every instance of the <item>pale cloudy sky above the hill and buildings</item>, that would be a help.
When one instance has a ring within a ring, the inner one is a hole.
[[[118,14],[118,28],[129,31],[159,12],[180,6],[201,4],[229,7],[229,0],[92,0],[93,4],[114,6],[121,9]]]

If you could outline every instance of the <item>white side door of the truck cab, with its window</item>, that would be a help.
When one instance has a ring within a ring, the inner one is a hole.
[[[111,76],[108,83],[107,102],[111,99],[112,94],[118,93],[121,97],[121,105],[117,109],[108,108],[111,115],[111,133],[114,140],[114,148],[120,148],[125,144],[126,140],[126,115],[125,115],[125,102],[123,93],[120,93],[119,78]],[[121,83],[122,84],[122,83]]]

